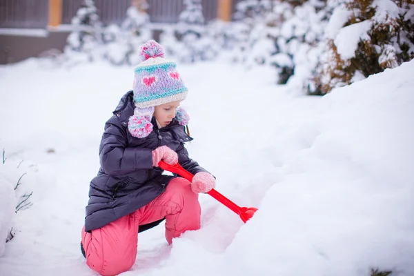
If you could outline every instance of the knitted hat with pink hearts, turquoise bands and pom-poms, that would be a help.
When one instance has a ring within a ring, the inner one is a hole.
[[[128,130],[137,138],[147,137],[152,132],[151,119],[155,106],[171,101],[182,101],[187,97],[187,88],[177,70],[177,65],[164,59],[164,50],[154,40],[141,46],[141,63],[135,67],[134,115],[129,119]],[[179,124],[188,124],[188,114],[177,109],[175,119]]]

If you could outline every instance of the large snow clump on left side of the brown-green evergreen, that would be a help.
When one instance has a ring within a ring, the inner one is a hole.
[[[355,56],[359,41],[369,40],[368,31],[370,30],[372,21],[365,20],[346,26],[339,30],[339,33],[334,39],[335,46],[337,46],[338,54],[342,59],[351,59]]]

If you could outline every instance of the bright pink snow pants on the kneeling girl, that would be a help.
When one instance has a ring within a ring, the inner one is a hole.
[[[86,264],[103,276],[118,275],[129,270],[137,257],[138,227],[166,218],[168,244],[186,230],[200,228],[201,209],[198,195],[190,182],[177,177],[170,181],[165,193],[134,213],[121,217],[102,228],[85,232],[82,244]]]

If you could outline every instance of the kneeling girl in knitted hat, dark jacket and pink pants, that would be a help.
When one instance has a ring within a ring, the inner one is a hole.
[[[106,122],[99,158],[90,182],[81,250],[86,264],[101,275],[129,270],[137,255],[138,233],[166,219],[168,244],[186,230],[200,228],[198,193],[215,187],[215,177],[188,157],[186,99],[176,64],[164,59],[161,46],[141,46],[133,91],[121,98]],[[193,182],[162,175],[159,161],[179,163]]]

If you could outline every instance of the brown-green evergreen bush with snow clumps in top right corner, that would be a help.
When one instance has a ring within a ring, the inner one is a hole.
[[[322,94],[414,58],[414,5],[411,0],[355,0],[333,17],[329,48],[320,68]],[[337,22],[333,22],[337,24]]]

